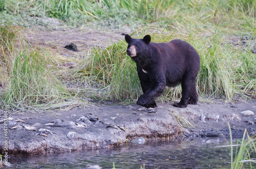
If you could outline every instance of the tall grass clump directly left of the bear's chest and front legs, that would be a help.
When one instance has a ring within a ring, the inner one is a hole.
[[[122,41],[103,51],[94,49],[92,57],[86,59],[79,70],[78,76],[90,76],[101,86],[104,91],[101,97],[105,99],[129,100],[141,93],[136,65],[126,57],[125,48],[126,44]]]

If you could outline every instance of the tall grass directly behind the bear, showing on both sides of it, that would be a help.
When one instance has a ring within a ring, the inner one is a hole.
[[[160,27],[144,27],[134,32],[132,37],[142,38],[150,32],[152,41],[168,42],[181,38],[192,44],[201,57],[201,67],[197,79],[198,91],[201,95],[232,100],[234,94],[255,96],[256,56],[249,51],[239,50],[225,41],[224,33],[215,29],[203,37],[196,27],[186,29],[162,29]],[[200,35],[200,36],[199,36]],[[192,38],[193,37],[193,38]],[[126,55],[127,44],[120,41],[104,49],[95,49],[92,58],[83,63],[80,71],[93,77],[104,88],[105,99],[113,101],[136,100],[142,93],[135,63]],[[88,73],[90,72],[90,73]],[[82,75],[82,74],[81,74]],[[159,101],[179,98],[181,87],[166,87]]]

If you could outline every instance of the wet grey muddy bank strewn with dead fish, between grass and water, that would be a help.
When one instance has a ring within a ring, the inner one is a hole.
[[[254,134],[256,124],[255,115],[241,116],[240,112],[256,112],[255,103],[199,103],[187,108],[158,104],[159,107],[154,110],[138,105],[98,105],[63,112],[8,111],[8,153],[32,155],[72,152],[115,147],[130,141],[177,137],[229,138],[227,122],[233,137],[242,138],[245,129]],[[2,129],[5,126],[5,112],[1,111]],[[183,118],[194,127],[185,126],[179,120]],[[4,152],[5,147],[4,134],[1,130],[1,152]]]

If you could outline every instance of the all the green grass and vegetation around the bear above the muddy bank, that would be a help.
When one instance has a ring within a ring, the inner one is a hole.
[[[142,93],[136,65],[127,57],[124,41],[104,50],[91,49],[90,58],[81,59],[67,74],[87,87],[75,92],[66,88],[62,80],[69,77],[60,77],[63,70],[49,66],[57,62],[54,54],[24,39],[24,27],[50,27],[42,22],[45,17],[73,26],[90,23],[92,27],[110,29],[137,28],[133,37],[151,34],[154,42],[180,38],[192,44],[201,56],[201,98],[207,95],[231,100],[234,94],[255,98],[256,55],[251,52],[256,50],[255,9],[255,1],[250,0],[1,1],[0,80],[8,86],[2,93],[2,105],[38,106],[81,97],[134,102]],[[180,86],[166,88],[158,102],[180,96]]]

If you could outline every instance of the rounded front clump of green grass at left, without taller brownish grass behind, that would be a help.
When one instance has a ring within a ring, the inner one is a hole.
[[[67,94],[64,86],[49,76],[48,61],[47,55],[37,50],[25,49],[14,56],[7,93],[3,97],[5,107],[50,103]]]

